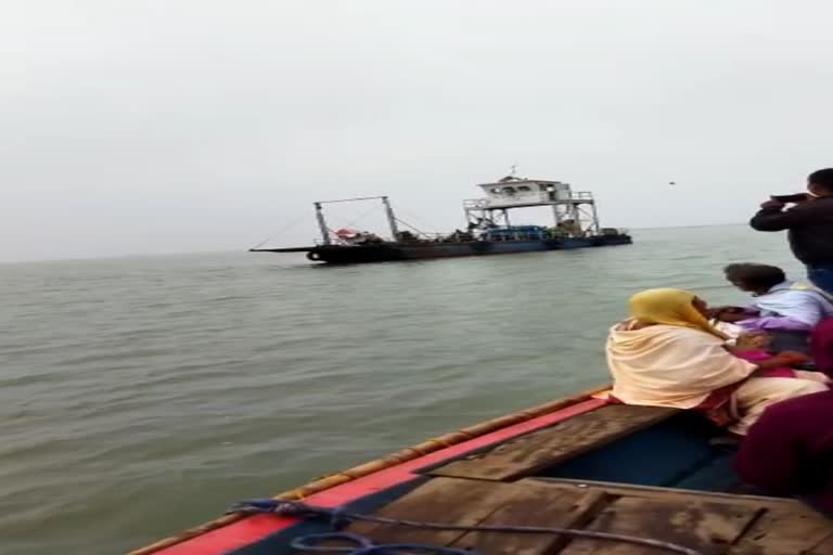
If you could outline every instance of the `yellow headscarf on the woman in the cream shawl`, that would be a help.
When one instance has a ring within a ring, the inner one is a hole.
[[[630,297],[630,315],[642,324],[678,325],[693,327],[728,339],[729,337],[708,323],[708,319],[694,308],[691,292],[682,289],[648,289]]]

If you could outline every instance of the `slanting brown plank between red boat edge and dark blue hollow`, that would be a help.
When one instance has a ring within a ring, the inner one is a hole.
[[[611,404],[548,428],[521,436],[492,450],[452,462],[434,476],[512,480],[603,447],[669,418],[678,409]]]

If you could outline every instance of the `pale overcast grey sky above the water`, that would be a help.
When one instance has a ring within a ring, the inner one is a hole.
[[[742,222],[833,166],[831,16],[823,0],[5,0],[0,260],[306,245],[313,201],[376,194],[452,230],[513,164],[594,192],[607,227]]]

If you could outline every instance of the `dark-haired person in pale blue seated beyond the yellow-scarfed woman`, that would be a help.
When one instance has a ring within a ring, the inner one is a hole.
[[[729,264],[726,279],[741,291],[751,293],[754,301],[746,308],[722,307],[714,315],[746,330],[810,332],[833,317],[833,304],[823,293],[786,279],[780,268],[766,264]]]

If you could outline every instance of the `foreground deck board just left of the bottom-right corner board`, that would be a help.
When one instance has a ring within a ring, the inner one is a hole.
[[[587,530],[663,540],[699,550],[727,553],[760,511],[744,505],[642,498],[620,498],[602,511]],[[667,551],[623,542],[573,540],[560,555],[663,555]]]

